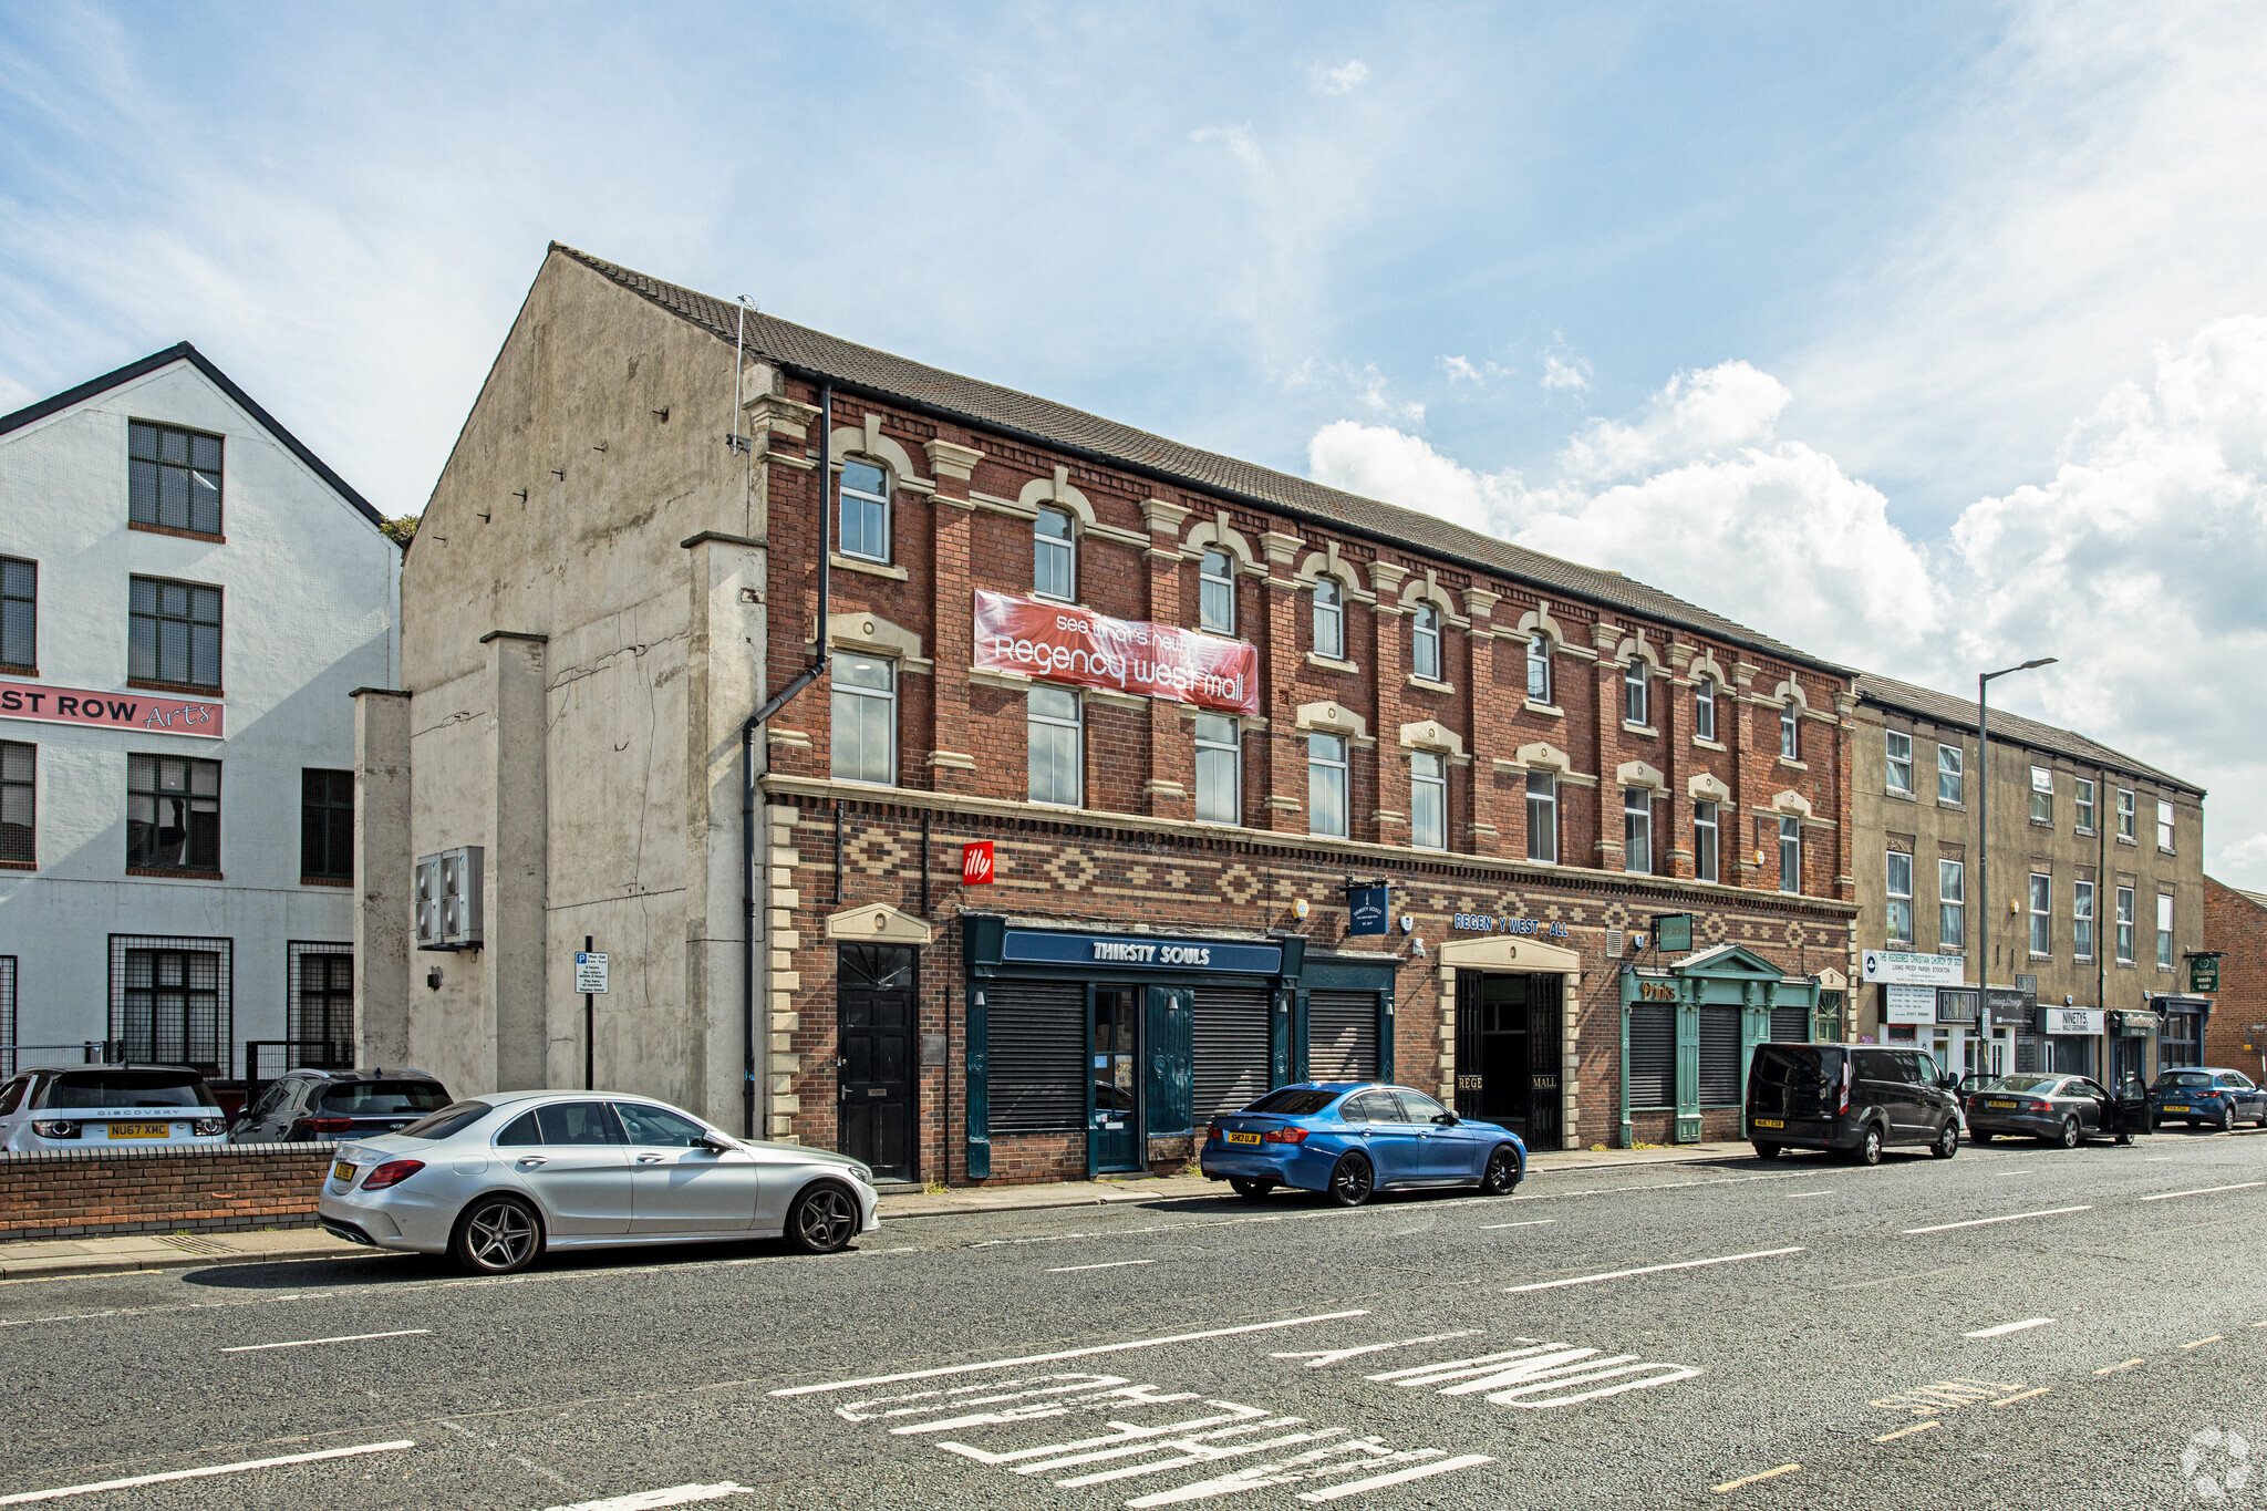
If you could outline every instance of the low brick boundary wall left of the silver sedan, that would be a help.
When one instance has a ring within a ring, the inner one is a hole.
[[[336,1144],[0,1153],[0,1241],[313,1228]]]

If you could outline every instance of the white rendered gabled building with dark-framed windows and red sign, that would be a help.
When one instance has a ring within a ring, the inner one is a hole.
[[[188,342],[0,417],[0,1074],[354,1053],[399,603],[381,514]]]

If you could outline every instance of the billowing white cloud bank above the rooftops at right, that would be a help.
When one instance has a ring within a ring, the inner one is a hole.
[[[1322,483],[1625,571],[1816,655],[1952,693],[2033,655],[2015,707],[2213,788],[2208,863],[2267,883],[2267,319],[2158,353],[2068,433],[2054,476],[1916,541],[1825,451],[1777,437],[1793,394],[1748,362],[1671,378],[1569,437],[1548,478],[1417,435],[1315,433]]]

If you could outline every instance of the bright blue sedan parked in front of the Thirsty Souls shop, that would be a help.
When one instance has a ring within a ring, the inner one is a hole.
[[[1247,1201],[1294,1185],[1358,1207],[1372,1192],[1417,1187],[1476,1185],[1503,1196],[1528,1173],[1528,1146],[1406,1085],[1310,1081],[1215,1117],[1199,1164]]]

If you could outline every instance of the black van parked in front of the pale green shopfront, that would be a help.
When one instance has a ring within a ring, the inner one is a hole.
[[[1891,1044],[1757,1044],[1748,1065],[1748,1137],[1755,1153],[1832,1149],[1879,1164],[1891,1144],[1920,1144],[1938,1160],[1961,1149],[1961,1110],[1936,1058]]]

